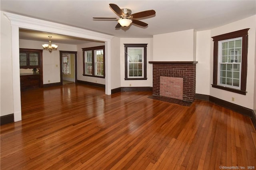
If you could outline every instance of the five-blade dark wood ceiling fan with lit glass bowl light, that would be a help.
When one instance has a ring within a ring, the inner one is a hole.
[[[152,16],[156,14],[154,10],[147,10],[147,11],[142,11],[142,12],[132,14],[132,10],[128,8],[121,9],[116,4],[109,4],[109,6],[112,8],[112,10],[114,10],[114,12],[116,12],[118,16],[120,16],[120,18],[93,17],[93,19],[118,20],[118,24],[116,25],[116,28],[127,27],[131,23],[146,27],[148,26],[147,23],[139,20],[134,20],[134,18],[143,18],[143,17]]]

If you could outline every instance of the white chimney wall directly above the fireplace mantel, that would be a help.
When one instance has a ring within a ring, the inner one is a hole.
[[[153,61],[194,61],[194,30],[153,36]]]

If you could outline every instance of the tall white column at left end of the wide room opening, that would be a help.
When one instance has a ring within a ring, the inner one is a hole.
[[[14,122],[21,121],[19,27],[12,26],[12,86]]]

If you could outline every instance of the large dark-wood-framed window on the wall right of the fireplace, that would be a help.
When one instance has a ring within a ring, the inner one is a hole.
[[[248,30],[212,37],[214,41],[212,87],[246,95]]]

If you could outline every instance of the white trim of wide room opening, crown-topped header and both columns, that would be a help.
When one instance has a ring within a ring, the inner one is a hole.
[[[110,44],[111,39],[114,36],[85,30],[82,28],[76,28],[73,26],[67,26],[64,24],[58,24],[55,22],[49,22],[45,20],[39,20],[36,18],[30,18],[21,16],[18,14],[12,14],[4,12],[4,16],[10,20],[11,25],[11,38],[12,38],[12,91],[13,91],[13,108],[14,108],[14,121],[21,121],[21,97],[20,97],[20,58],[19,58],[19,29],[36,30],[42,32],[50,32],[55,34],[62,34],[66,36],[73,36],[78,38],[85,38],[90,40],[98,40],[105,42],[105,57],[106,57],[106,95],[111,95],[111,62],[110,62]]]

